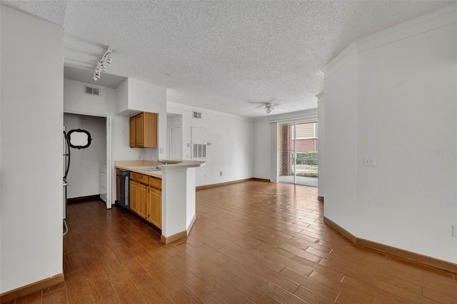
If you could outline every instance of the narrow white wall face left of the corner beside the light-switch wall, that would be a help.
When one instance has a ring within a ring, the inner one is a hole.
[[[325,79],[324,216],[357,233],[357,59]],[[321,126],[319,126],[321,127]],[[321,183],[321,177],[319,183]]]

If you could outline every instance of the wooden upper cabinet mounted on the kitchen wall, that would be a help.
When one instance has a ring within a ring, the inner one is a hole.
[[[143,112],[130,118],[130,147],[157,148],[157,113]]]

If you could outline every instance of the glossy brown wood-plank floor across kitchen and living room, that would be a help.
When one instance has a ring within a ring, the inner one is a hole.
[[[170,245],[121,208],[73,204],[66,282],[15,303],[457,303],[457,275],[353,245],[316,196],[263,181],[197,191],[194,228]]]

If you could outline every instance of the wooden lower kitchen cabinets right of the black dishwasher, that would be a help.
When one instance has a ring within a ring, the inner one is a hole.
[[[162,181],[160,178],[130,173],[130,210],[162,227]]]

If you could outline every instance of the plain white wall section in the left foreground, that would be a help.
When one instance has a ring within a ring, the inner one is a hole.
[[[63,88],[64,29],[1,6],[0,293],[63,272]]]

